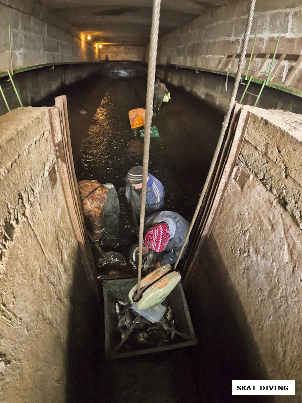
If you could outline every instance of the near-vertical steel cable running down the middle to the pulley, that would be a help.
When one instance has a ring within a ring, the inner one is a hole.
[[[150,51],[149,51],[146,119],[144,128],[143,178],[142,178],[141,208],[140,208],[140,222],[139,222],[137,298],[140,297],[140,280],[142,270],[142,243],[143,243],[144,216],[146,208],[147,178],[148,178],[149,152],[150,152],[150,131],[151,131],[151,119],[152,119],[152,107],[153,107],[157,43],[158,43],[159,23],[160,23],[160,8],[161,8],[161,0],[154,0],[152,10],[152,25],[151,25]]]

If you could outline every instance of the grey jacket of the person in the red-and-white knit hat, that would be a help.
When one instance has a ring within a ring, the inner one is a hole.
[[[180,249],[187,236],[190,223],[180,214],[175,213],[174,211],[163,210],[153,213],[147,217],[145,219],[144,229],[146,231],[150,227],[153,227],[155,224],[161,222],[168,224],[170,232],[170,240],[167,243],[164,256],[160,259],[161,266],[164,266],[165,264],[173,264],[176,262]],[[187,246],[188,242],[181,258],[184,257]]]

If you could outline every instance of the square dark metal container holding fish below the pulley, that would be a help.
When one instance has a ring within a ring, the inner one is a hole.
[[[165,350],[178,349],[197,344],[195,332],[190,318],[186,298],[181,283],[179,282],[173,291],[168,295],[166,301],[172,308],[175,330],[190,338],[182,338],[176,335],[172,341],[160,347],[147,349],[137,349],[133,351],[117,351],[113,353],[115,347],[120,342],[120,335],[116,330],[118,318],[115,311],[117,299],[128,298],[131,288],[137,283],[137,279],[107,280],[103,281],[104,295],[104,321],[105,321],[105,357],[107,359],[125,358],[141,354],[157,353]]]

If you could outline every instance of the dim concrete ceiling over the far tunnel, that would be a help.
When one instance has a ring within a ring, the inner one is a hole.
[[[146,46],[150,40],[152,0],[39,0],[93,42]],[[235,0],[162,0],[159,37],[206,11]]]

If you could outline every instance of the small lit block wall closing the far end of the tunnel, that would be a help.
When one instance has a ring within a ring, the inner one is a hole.
[[[131,60],[144,61],[145,48],[143,46],[109,46],[103,45],[99,49],[100,60]]]

